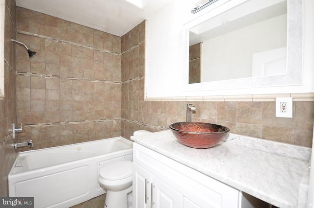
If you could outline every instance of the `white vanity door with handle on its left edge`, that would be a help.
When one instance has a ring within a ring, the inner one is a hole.
[[[183,195],[153,176],[152,208],[182,208]]]

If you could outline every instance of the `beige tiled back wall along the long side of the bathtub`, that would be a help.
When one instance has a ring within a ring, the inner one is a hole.
[[[121,38],[17,7],[19,141],[34,149],[121,134]],[[28,147],[21,148],[27,150]]]

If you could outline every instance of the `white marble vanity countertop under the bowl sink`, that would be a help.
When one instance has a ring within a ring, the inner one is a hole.
[[[306,203],[311,148],[229,134],[216,147],[194,149],[170,130],[131,139],[274,206]]]

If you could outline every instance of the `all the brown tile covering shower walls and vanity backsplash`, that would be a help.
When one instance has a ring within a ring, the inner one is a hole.
[[[8,92],[0,100],[5,129],[0,143],[5,166],[0,168],[2,196],[7,195],[7,174],[16,157],[9,146],[11,122],[24,125],[19,142],[32,139],[34,149],[39,149],[116,136],[129,139],[139,129],[165,130],[171,122],[184,121],[186,104],[193,103],[194,121],[225,125],[236,134],[312,146],[313,101],[296,101],[293,118],[276,118],[274,101],[144,100],[145,21],[117,37],[19,7],[15,23],[12,5],[12,23],[6,23],[6,29],[14,32],[9,36],[16,35],[37,54],[29,60],[25,48],[6,38],[5,51],[13,54],[6,56]]]

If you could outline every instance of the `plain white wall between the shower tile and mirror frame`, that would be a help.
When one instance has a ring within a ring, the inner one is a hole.
[[[147,18],[146,96],[171,96],[182,82],[182,27],[193,5],[191,0],[173,0]]]

